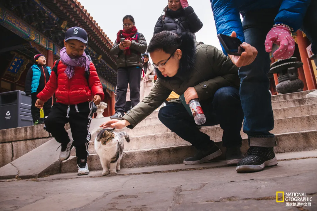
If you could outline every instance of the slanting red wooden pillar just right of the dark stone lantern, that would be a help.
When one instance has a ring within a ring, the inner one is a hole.
[[[310,43],[308,42],[307,38],[303,37],[303,33],[300,30],[297,30],[296,33],[297,33],[298,49],[301,55],[301,62],[303,62],[303,70],[304,70],[305,80],[307,83],[307,89],[308,90],[316,89],[313,73],[311,72],[311,69],[307,63],[308,55],[307,55],[306,48],[310,45]]]

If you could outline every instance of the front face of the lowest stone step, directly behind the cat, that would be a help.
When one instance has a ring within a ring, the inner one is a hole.
[[[317,130],[276,135],[276,142],[275,153],[316,150]],[[225,152],[221,146],[222,142],[217,142],[217,145]],[[245,138],[241,150],[246,152],[247,149],[248,139]],[[195,151],[191,145],[125,151],[120,166],[121,168],[133,168],[182,163],[185,157],[192,156]],[[219,159],[224,159],[224,153]],[[76,166],[76,157],[72,156],[61,162],[61,172],[76,172]],[[88,167],[91,171],[102,169],[97,154],[91,154],[88,157]]]

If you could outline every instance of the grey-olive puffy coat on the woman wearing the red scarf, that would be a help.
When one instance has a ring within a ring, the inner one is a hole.
[[[135,34],[133,38],[136,38],[136,35],[137,34]],[[141,54],[144,54],[147,48],[145,37],[139,33],[138,42],[132,40],[130,55],[126,55],[123,50],[120,50],[119,44],[120,43],[115,42],[111,48],[111,52],[117,57],[117,68],[135,66],[143,68],[143,59]]]

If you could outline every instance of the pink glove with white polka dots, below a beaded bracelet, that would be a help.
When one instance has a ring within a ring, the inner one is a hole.
[[[280,46],[273,53],[275,59],[288,59],[293,56],[295,41],[286,26],[276,26],[268,32],[265,39],[266,52],[269,53],[272,51],[273,43]]]

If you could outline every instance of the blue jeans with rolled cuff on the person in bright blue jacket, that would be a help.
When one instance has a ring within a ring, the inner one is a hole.
[[[309,6],[301,29],[307,34],[312,44],[313,53],[317,42],[317,2]],[[243,132],[248,134],[250,146],[276,146],[274,134],[274,117],[271,95],[268,92],[270,81],[267,77],[270,69],[269,53],[265,51],[264,42],[268,31],[274,25],[278,8],[253,10],[243,14],[243,32],[245,42],[254,46],[258,55],[255,61],[239,69],[241,78],[240,98],[245,115]]]

